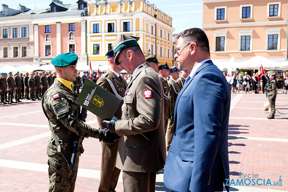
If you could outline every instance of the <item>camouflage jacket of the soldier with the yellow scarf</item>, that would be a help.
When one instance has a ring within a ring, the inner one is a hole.
[[[49,129],[55,133],[99,138],[101,130],[90,127],[78,119],[80,106],[76,104],[76,93],[55,79],[54,84],[43,95],[42,108],[49,121]],[[74,140],[58,139],[67,157],[71,157]],[[50,136],[47,155],[58,153],[54,137]]]

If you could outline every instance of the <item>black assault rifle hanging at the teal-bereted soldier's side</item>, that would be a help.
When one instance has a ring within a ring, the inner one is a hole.
[[[87,109],[82,107],[79,119],[85,122],[86,117],[87,117]],[[71,164],[69,165],[69,169],[72,169],[75,172],[77,172],[78,170],[78,167],[76,166],[76,159],[78,157],[78,154],[80,153],[79,156],[81,156],[81,154],[84,153],[84,149],[82,147],[83,139],[84,137],[80,137],[76,135],[75,140],[74,140],[73,153],[72,153]]]

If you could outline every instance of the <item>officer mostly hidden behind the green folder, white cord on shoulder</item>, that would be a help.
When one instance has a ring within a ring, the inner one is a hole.
[[[120,102],[118,109],[116,110],[114,116],[118,119],[122,117],[122,104],[127,88],[126,81],[122,78],[119,65],[114,63],[114,52],[110,50],[106,54],[109,62],[109,70],[104,73],[98,80],[97,84],[102,88],[106,89],[122,101]],[[105,125],[102,123],[102,119],[97,117],[100,129],[105,129]],[[99,183],[98,192],[115,192],[118,177],[120,174],[120,169],[115,167],[116,157],[118,153],[118,148],[120,144],[120,139],[117,140],[113,145],[107,145],[103,142],[102,144],[102,160],[101,160],[101,178]]]

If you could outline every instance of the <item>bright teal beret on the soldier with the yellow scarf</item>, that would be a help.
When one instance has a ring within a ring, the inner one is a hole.
[[[66,67],[68,65],[76,65],[78,56],[75,53],[62,53],[51,60],[56,67]]]

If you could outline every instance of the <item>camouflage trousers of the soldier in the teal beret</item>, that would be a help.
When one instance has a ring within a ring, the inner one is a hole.
[[[76,166],[79,164],[79,156],[76,161]],[[49,156],[48,159],[49,173],[49,192],[73,192],[77,172],[68,169],[67,162],[62,154]]]

